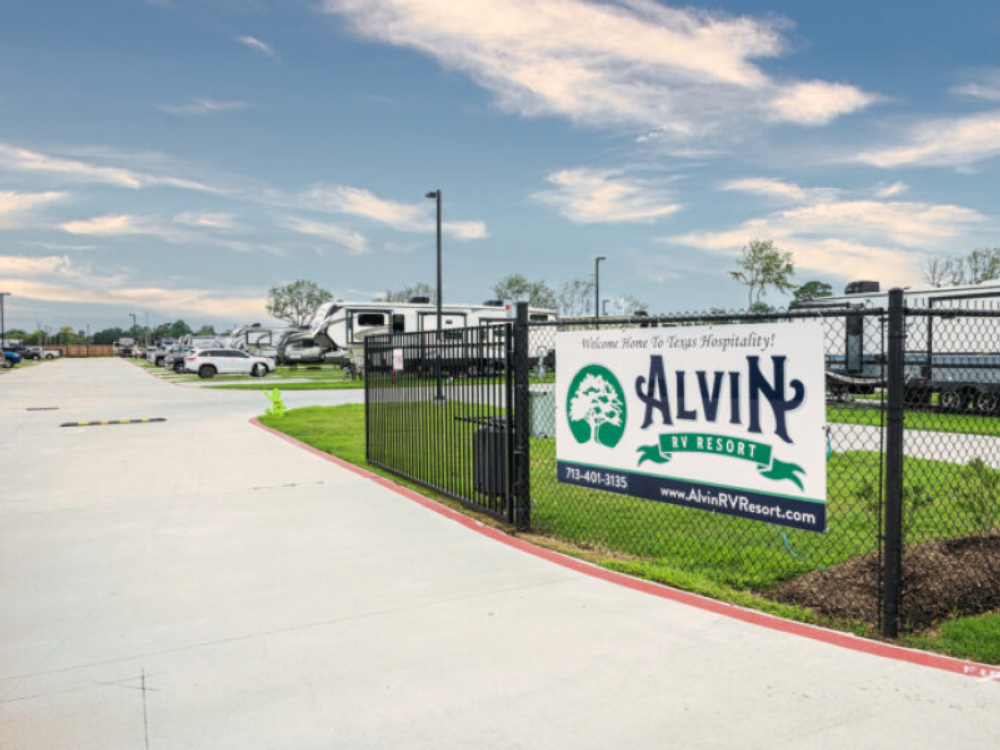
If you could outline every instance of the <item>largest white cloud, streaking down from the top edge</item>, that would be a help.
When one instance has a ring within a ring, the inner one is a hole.
[[[359,34],[468,74],[508,112],[654,130],[671,140],[739,115],[822,125],[876,97],[825,81],[777,80],[756,64],[788,48],[787,21],[651,0],[324,0]]]

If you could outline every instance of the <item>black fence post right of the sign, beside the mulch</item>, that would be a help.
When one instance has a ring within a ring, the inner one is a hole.
[[[889,369],[886,385],[885,549],[883,564],[882,635],[899,635],[900,579],[903,539],[903,363],[906,349],[903,290],[889,290]]]

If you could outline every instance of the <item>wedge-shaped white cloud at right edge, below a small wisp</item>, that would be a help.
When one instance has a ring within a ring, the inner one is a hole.
[[[890,169],[906,166],[960,167],[1000,155],[1000,111],[928,120],[907,129],[897,142],[858,154],[854,161]]]

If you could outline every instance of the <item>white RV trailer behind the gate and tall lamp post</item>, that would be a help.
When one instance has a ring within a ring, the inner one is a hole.
[[[512,306],[504,305],[498,300],[491,300],[482,305],[442,305],[444,363],[455,366],[460,363],[449,360],[465,358],[464,355],[458,354],[458,348],[449,346],[449,342],[454,343],[457,338],[463,337],[463,334],[459,333],[460,329],[488,327],[491,323],[509,322],[513,320],[513,314]],[[530,308],[528,316],[533,322],[549,321],[556,319],[556,312]],[[312,342],[315,347],[323,350],[324,361],[357,365],[363,356],[364,342],[368,336],[386,333],[427,334],[426,337],[417,339],[422,354],[419,357],[408,357],[411,363],[418,366],[419,360],[437,356],[434,348],[437,337],[431,334],[437,327],[437,305],[427,297],[414,297],[409,302],[343,300],[330,302],[317,309],[308,330],[297,331],[285,339],[281,356],[284,361],[291,361],[290,355],[296,344]],[[502,342],[497,340],[497,335],[495,332],[491,334],[493,338],[489,342],[485,340],[477,342],[481,346],[488,343],[490,347],[488,352],[479,351],[477,359],[485,354],[485,357],[494,363],[502,361],[503,346]],[[465,334],[465,340],[468,340],[468,334]],[[408,345],[413,345],[413,342],[414,340],[410,339]],[[476,365],[465,362],[463,366]]]

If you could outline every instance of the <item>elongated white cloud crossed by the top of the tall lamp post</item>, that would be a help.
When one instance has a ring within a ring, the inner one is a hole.
[[[429,201],[402,203],[350,185],[314,185],[290,199],[278,195],[275,199],[312,211],[360,216],[400,232],[433,232],[436,229],[433,204]],[[488,236],[482,221],[443,221],[441,231],[460,240]]]

